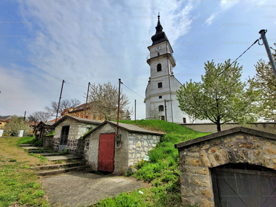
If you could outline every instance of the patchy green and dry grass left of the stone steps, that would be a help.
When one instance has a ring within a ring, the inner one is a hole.
[[[29,138],[0,139],[0,146],[6,148],[6,151],[0,150],[0,207],[48,206],[37,175],[29,169],[32,164],[39,163],[39,159],[17,147],[19,143],[30,141]]]

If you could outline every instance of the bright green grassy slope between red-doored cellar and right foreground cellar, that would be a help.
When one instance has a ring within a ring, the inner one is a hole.
[[[120,122],[135,124],[134,121]],[[136,165],[137,172],[132,175],[136,179],[150,182],[152,187],[141,189],[144,194],[140,194],[138,190],[122,193],[94,206],[181,206],[179,157],[175,144],[210,133],[197,132],[186,126],[162,120],[137,120],[135,125],[166,133],[160,143],[148,153],[150,161],[141,160]]]

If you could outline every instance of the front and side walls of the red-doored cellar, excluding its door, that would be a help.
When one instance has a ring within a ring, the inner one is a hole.
[[[92,132],[85,140],[84,154],[92,170],[98,170],[99,137],[102,134],[116,133],[117,128],[106,124]],[[135,166],[143,159],[148,151],[156,146],[160,136],[132,133],[119,128],[119,135],[122,135],[123,142],[115,147],[114,173],[124,174],[128,167]]]

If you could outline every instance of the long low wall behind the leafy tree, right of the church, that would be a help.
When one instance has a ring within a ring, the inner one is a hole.
[[[198,132],[211,132],[211,133],[217,132],[217,125],[212,123],[181,124],[181,125],[186,126],[188,128],[192,128],[193,130],[197,130]],[[221,131],[228,130],[230,128],[234,128],[237,126],[242,126],[242,125],[237,123],[227,123],[225,125],[221,125]],[[276,134],[276,122],[257,122],[257,123],[250,124],[247,127],[255,130],[261,130],[264,132],[270,132],[270,133]]]

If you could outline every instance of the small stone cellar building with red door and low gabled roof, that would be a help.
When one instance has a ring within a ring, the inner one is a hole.
[[[148,155],[163,135],[132,124],[104,121],[83,136],[85,159],[92,170],[124,174]]]

